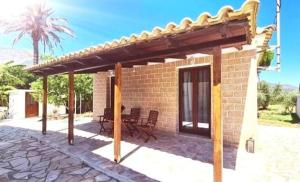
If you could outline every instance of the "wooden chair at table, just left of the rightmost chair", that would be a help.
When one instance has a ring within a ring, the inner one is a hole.
[[[133,136],[135,131],[139,131],[137,125],[140,120],[140,116],[141,108],[131,108],[130,114],[123,119],[123,122],[131,136]]]

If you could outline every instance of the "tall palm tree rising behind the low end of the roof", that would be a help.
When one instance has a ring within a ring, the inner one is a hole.
[[[39,43],[50,51],[53,45],[60,45],[60,37],[57,33],[65,33],[73,36],[73,31],[68,28],[67,20],[52,17],[53,10],[47,8],[45,3],[37,3],[27,7],[17,21],[5,23],[5,33],[18,32],[13,41],[15,45],[24,35],[31,36],[33,43],[33,64],[39,63]]]

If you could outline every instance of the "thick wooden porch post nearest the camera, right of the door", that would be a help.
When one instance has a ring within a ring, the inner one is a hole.
[[[223,122],[221,112],[221,48],[213,50],[213,161],[214,182],[222,181]]]

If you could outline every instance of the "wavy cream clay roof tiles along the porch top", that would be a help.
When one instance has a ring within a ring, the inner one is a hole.
[[[28,68],[28,71],[36,70],[39,68],[44,68],[53,64],[57,64],[64,61],[70,61],[74,59],[80,59],[87,57],[89,55],[97,54],[100,52],[109,51],[111,49],[124,47],[127,45],[140,43],[143,41],[149,41],[153,39],[158,39],[163,36],[178,34],[182,32],[187,32],[195,28],[205,28],[211,25],[216,25],[220,23],[229,22],[232,20],[248,19],[250,34],[252,37],[256,35],[256,16],[258,11],[259,0],[247,0],[238,10],[234,10],[231,6],[222,7],[216,16],[212,16],[205,12],[199,15],[196,20],[191,20],[190,18],[184,18],[180,24],[173,22],[168,23],[165,28],[155,27],[151,32],[142,31],[140,34],[132,34],[130,37],[122,37],[119,40],[113,40],[111,42],[106,42],[105,44],[100,44],[83,49],[78,52],[73,52],[68,55],[61,56],[47,63],[42,63],[39,65],[34,65]]]

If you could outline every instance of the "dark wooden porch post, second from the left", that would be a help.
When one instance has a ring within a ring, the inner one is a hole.
[[[74,72],[69,72],[69,115],[68,142],[74,144]]]

